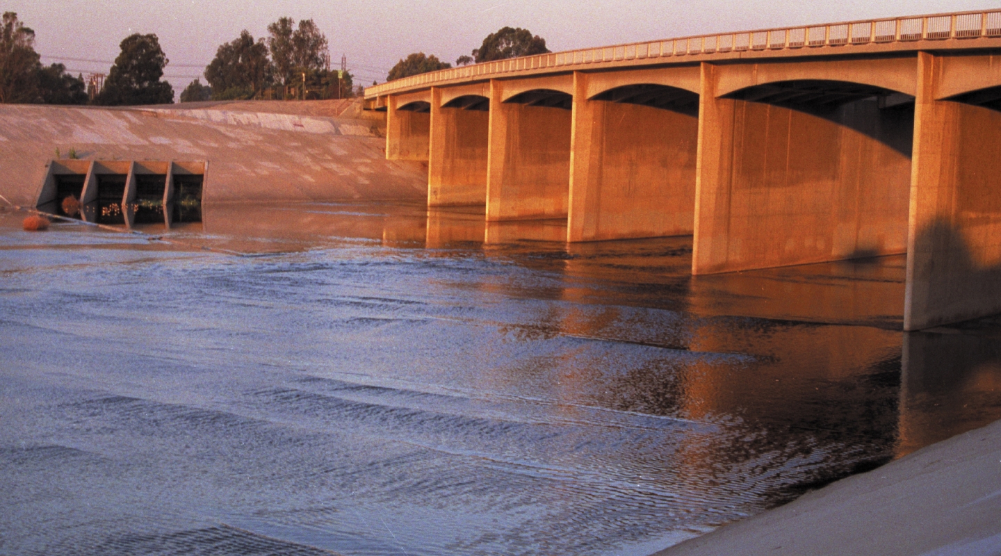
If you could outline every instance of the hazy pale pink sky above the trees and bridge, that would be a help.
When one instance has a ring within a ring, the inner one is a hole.
[[[180,91],[201,75],[219,44],[247,29],[256,38],[281,16],[312,18],[356,83],[382,82],[410,52],[454,62],[505,25],[546,38],[553,51],[702,33],[875,17],[997,8],[998,0],[7,0],[36,33],[42,62],[73,73],[107,72],[118,43],[156,33]],[[96,60],[96,62],[82,60]],[[203,80],[204,81],[204,80]]]

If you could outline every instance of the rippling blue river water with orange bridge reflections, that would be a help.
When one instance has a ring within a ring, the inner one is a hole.
[[[0,553],[647,555],[1001,418],[1001,319],[900,257],[405,205],[0,212]]]

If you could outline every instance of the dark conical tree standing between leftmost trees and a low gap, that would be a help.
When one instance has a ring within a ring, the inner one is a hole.
[[[156,35],[135,33],[121,42],[121,54],[108,72],[104,90],[97,104],[105,106],[171,104],[174,90],[170,83],[160,81],[166,55]]]

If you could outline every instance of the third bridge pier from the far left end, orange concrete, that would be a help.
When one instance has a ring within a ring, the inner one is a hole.
[[[490,81],[486,220],[566,218],[571,111],[505,102]]]

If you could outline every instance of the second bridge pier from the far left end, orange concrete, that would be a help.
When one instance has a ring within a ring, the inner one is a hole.
[[[430,105],[427,206],[485,204],[489,113],[442,106],[437,87],[431,88]]]

